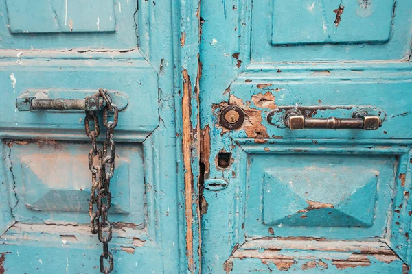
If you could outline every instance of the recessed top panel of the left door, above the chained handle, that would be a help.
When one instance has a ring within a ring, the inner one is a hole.
[[[0,49],[135,49],[138,10],[129,0],[1,0]]]

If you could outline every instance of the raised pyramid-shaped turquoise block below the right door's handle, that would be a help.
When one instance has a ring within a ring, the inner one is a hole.
[[[321,173],[318,169],[266,172],[263,223],[371,226],[378,172],[365,171],[355,182],[350,173],[345,168],[326,168]]]

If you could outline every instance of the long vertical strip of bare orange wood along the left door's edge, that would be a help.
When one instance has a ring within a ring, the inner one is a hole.
[[[194,272],[194,256],[193,256],[193,174],[191,158],[191,143],[192,143],[192,123],[190,116],[192,112],[192,83],[190,82],[189,74],[186,69],[183,69],[183,97],[182,97],[182,116],[183,116],[183,134],[182,134],[182,152],[183,166],[185,169],[185,221],[186,221],[186,256],[189,264],[190,272]]]

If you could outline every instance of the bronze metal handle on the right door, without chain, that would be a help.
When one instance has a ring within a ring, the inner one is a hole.
[[[352,118],[311,118],[305,117],[299,110],[288,110],[284,114],[284,123],[292,130],[305,128],[376,130],[382,126],[379,116],[368,115],[366,112],[354,112]]]

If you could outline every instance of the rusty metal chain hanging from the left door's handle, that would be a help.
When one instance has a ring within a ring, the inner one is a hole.
[[[84,129],[86,135],[91,139],[91,150],[89,151],[89,169],[91,171],[91,196],[89,203],[89,216],[91,233],[98,234],[99,241],[103,244],[103,253],[100,255],[100,272],[107,274],[113,271],[113,254],[108,251],[108,242],[112,238],[112,226],[108,221],[108,210],[111,207],[110,181],[115,171],[115,141],[114,133],[117,126],[119,110],[112,103],[111,97],[106,90],[99,89],[93,97],[100,96],[104,99],[103,125],[106,127],[106,139],[103,142],[103,151],[98,148],[96,139],[100,134],[99,119],[95,111],[86,111]],[[108,112],[113,112],[113,121],[108,121]],[[93,121],[93,129],[90,122]],[[107,152],[109,149],[109,153]],[[97,158],[97,163],[94,159]],[[96,210],[94,206],[96,205]],[[104,266],[104,260],[108,266]]]

